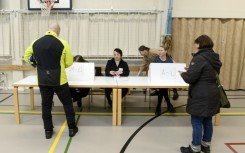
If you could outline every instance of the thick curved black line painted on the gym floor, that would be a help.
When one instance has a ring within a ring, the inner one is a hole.
[[[178,106],[178,107],[175,107],[175,109],[176,108],[180,108],[180,107],[183,107],[183,106],[186,106],[186,104],[185,105],[181,105],[181,106]],[[120,151],[120,153],[124,153],[125,152],[125,150],[127,149],[127,147],[128,147],[128,145],[130,144],[130,142],[133,140],[133,138],[135,137],[135,135],[137,134],[137,133],[139,133],[139,131],[144,127],[144,126],[146,126],[148,123],[150,123],[151,121],[153,121],[155,118],[157,118],[157,117],[159,117],[159,116],[161,116],[162,114],[164,114],[164,113],[167,113],[168,111],[164,111],[164,112],[162,112],[161,114],[158,114],[158,115],[156,115],[156,116],[154,116],[154,117],[152,117],[152,118],[150,118],[148,121],[146,121],[144,124],[142,124],[131,136],[130,136],[130,138],[127,140],[127,142],[124,144],[124,146],[122,147],[122,149],[121,149],[121,151]]]

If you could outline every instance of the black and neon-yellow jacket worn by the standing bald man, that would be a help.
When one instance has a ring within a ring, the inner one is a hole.
[[[33,41],[25,51],[25,61],[30,63],[30,57],[36,61],[38,85],[60,86],[68,82],[65,68],[73,64],[71,48],[55,32],[47,31]]]

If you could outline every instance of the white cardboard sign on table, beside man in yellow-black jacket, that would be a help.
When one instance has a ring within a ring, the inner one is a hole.
[[[68,81],[93,81],[94,73],[94,63],[74,62],[66,68]]]

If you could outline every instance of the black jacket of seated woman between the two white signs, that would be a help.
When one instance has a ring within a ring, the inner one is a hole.
[[[129,68],[127,62],[121,59],[120,63],[116,64],[115,59],[112,58],[111,60],[107,61],[106,68],[105,68],[105,75],[112,76],[110,71],[118,71],[119,68],[123,68],[123,73],[120,76],[128,76],[129,75]]]

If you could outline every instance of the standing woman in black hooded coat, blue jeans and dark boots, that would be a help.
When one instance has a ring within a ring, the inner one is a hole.
[[[220,110],[216,73],[219,74],[222,63],[219,54],[212,49],[213,41],[210,37],[201,35],[194,44],[197,52],[187,71],[180,72],[184,81],[190,85],[186,111],[191,115],[192,143],[180,150],[182,153],[209,153],[213,135],[212,116]]]

